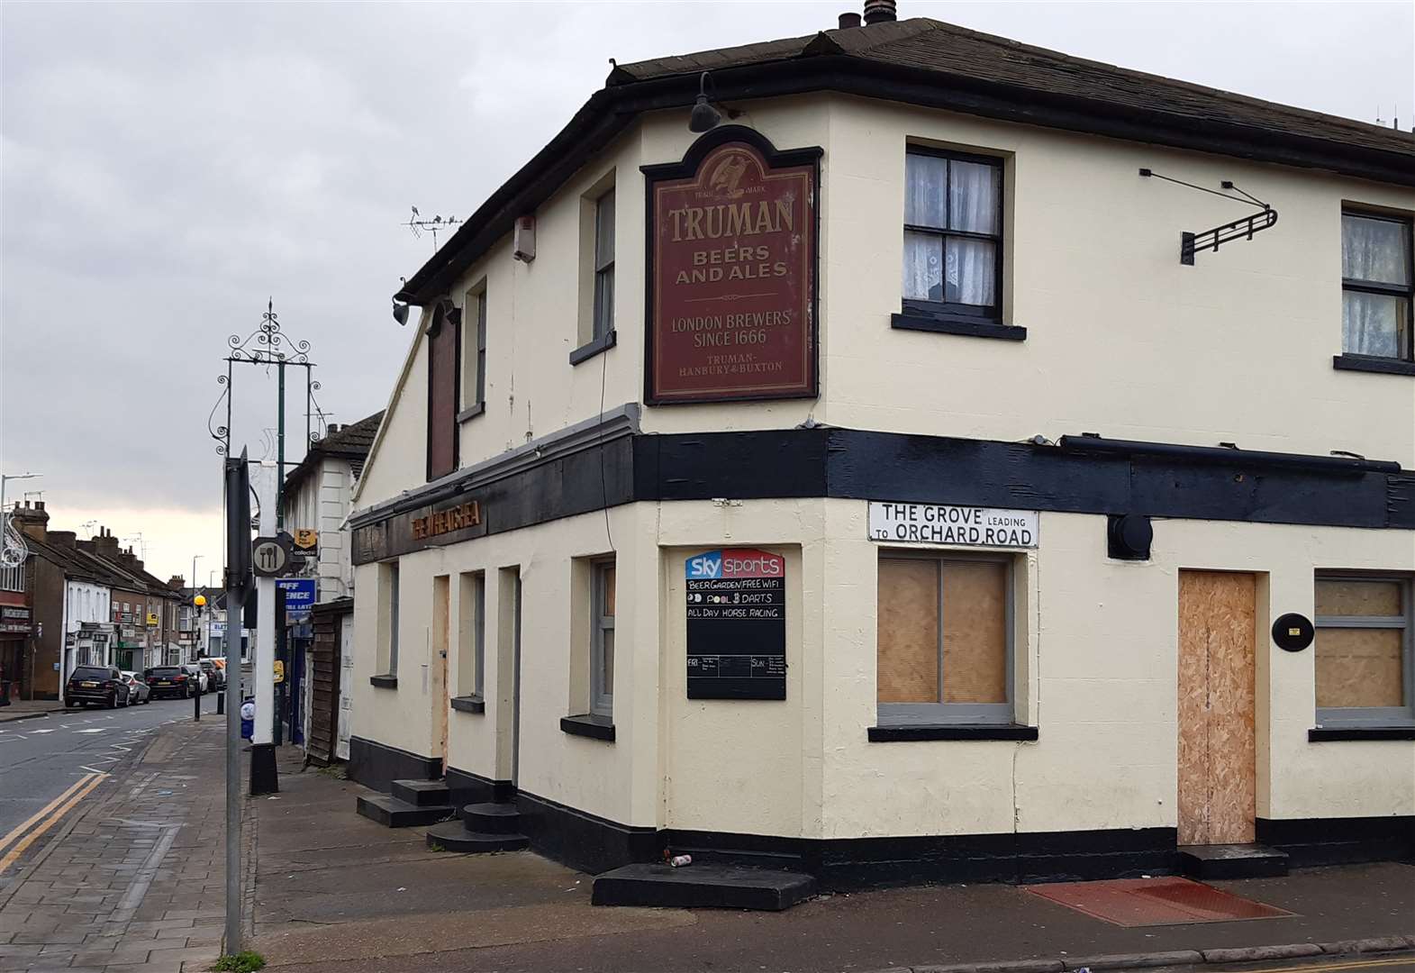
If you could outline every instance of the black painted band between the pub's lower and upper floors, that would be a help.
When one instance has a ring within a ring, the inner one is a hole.
[[[519,452],[351,518],[354,562],[501,534],[638,500],[841,497],[1081,514],[1415,530],[1415,474],[1395,463],[1065,438],[1065,446],[863,429],[651,435],[618,419],[543,459]],[[412,520],[477,500],[475,528]]]

